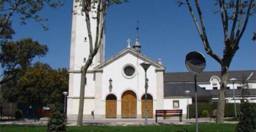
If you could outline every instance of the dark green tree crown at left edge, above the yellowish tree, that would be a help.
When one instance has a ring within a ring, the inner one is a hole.
[[[1,67],[4,78],[0,84],[14,80],[21,71],[31,65],[35,57],[43,57],[48,52],[46,45],[40,45],[32,38],[25,38],[16,42],[5,42],[1,45]]]

